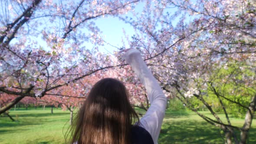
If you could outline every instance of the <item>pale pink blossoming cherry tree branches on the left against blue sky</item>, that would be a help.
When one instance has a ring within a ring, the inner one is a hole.
[[[7,0],[0,13],[0,92],[16,97],[0,114],[24,97],[75,82],[114,64],[98,54],[103,45],[93,20],[117,16],[138,0]],[[86,43],[95,44],[94,48]],[[92,50],[89,50],[92,49]],[[65,80],[60,83],[60,80]]]

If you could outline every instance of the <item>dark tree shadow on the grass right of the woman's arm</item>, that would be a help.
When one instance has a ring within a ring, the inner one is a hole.
[[[236,131],[240,139],[240,131]],[[256,144],[256,128],[249,131],[248,144]],[[159,144],[224,144],[220,129],[205,121],[185,120],[165,122]]]

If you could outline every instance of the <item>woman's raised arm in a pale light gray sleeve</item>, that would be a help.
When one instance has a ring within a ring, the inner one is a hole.
[[[141,58],[141,53],[137,49],[129,49],[123,56],[125,61],[138,75],[148,92],[151,106],[140,120],[140,126],[145,128],[153,138],[154,144],[158,144],[158,136],[164,119],[167,99],[164,96],[160,85],[148,69]]]

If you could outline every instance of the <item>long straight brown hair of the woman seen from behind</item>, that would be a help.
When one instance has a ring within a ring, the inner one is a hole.
[[[131,144],[135,121],[139,122],[139,118],[125,85],[117,79],[102,79],[92,87],[78,111],[69,131],[70,143]]]

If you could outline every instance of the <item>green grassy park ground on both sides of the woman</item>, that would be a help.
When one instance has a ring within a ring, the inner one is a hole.
[[[142,111],[140,111],[142,112]],[[203,114],[210,116],[208,111]],[[0,144],[63,144],[69,126],[69,111],[29,108],[10,111],[16,120],[0,117]],[[220,114],[224,118],[224,115]],[[231,118],[236,126],[243,119]],[[249,131],[248,144],[256,144],[256,119]],[[239,136],[239,134],[237,134]],[[192,111],[166,111],[159,144],[223,144],[219,128],[208,124]]]

